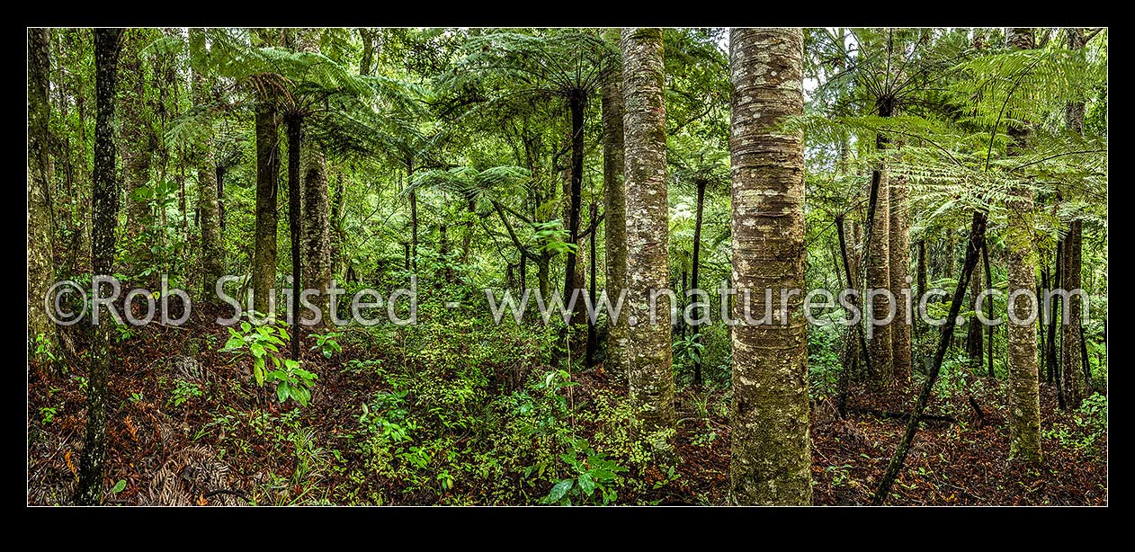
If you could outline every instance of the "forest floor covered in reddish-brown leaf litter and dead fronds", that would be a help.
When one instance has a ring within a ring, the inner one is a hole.
[[[212,319],[195,315],[182,329],[136,330],[112,346],[108,503],[502,504],[536,503],[548,492],[550,483],[526,483],[521,474],[499,467],[466,465],[466,475],[449,478],[448,469],[460,467],[454,458],[485,461],[479,452],[485,449],[474,450],[473,442],[487,438],[478,438],[476,427],[445,436],[442,442],[455,452],[448,453],[446,468],[430,465],[436,475],[371,469],[362,449],[345,443],[360,432],[360,405],[387,385],[380,373],[359,370],[358,360],[381,353],[345,345],[342,354],[326,359],[306,351],[306,367],[320,375],[312,402],[280,406],[270,394],[250,391],[251,362],[219,353],[227,330],[202,320]],[[199,345],[190,345],[191,338]],[[84,350],[82,338],[76,345]],[[170,362],[193,347],[200,348],[202,370],[186,372]],[[85,424],[85,363],[75,364],[65,374],[39,366],[28,374],[30,504],[70,502]],[[600,400],[600,393],[620,394],[602,368],[577,373],[573,380],[578,385],[571,399],[580,410]],[[966,389],[932,399],[927,414],[952,421],[923,422],[889,504],[1107,503],[1105,425],[1101,430],[1083,411],[1058,409],[1054,390],[1042,384],[1044,462],[1022,466],[1008,459],[1003,382],[972,377]],[[909,411],[916,392],[914,385],[888,392],[854,387],[846,419],[838,416],[834,399],[813,401],[815,504],[869,501],[906,425],[880,413]],[[174,406],[177,397],[185,400]],[[683,389],[676,402],[676,472],[646,467],[627,474],[644,484],[620,491],[616,503],[726,503],[729,393]],[[583,435],[604,431],[586,421],[578,426]],[[414,452],[414,447],[407,450]],[[482,475],[474,475],[479,470]]]

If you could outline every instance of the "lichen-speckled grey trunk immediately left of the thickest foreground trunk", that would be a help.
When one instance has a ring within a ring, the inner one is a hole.
[[[665,67],[661,28],[624,28],[623,133],[627,141],[627,288],[630,398],[647,431],[674,427],[670,302],[650,290],[670,280],[666,204]],[[570,271],[569,271],[570,273]],[[670,450],[671,443],[656,442]]]

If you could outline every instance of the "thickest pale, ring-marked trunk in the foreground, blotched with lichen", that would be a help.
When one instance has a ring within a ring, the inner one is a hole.
[[[750,291],[733,306],[730,475],[739,504],[812,504],[802,297],[780,306],[781,289],[805,287],[804,138],[770,130],[804,112],[802,58],[799,28],[730,31],[733,285]],[[747,312],[765,313],[766,288],[772,322],[747,323]]]

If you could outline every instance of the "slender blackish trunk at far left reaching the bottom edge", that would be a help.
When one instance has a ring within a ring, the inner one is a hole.
[[[123,29],[94,29],[94,172],[92,193],[91,271],[94,275],[115,272],[115,228],[118,226],[118,184],[115,178],[115,94],[118,52]],[[109,290],[100,290],[109,296]],[[92,313],[93,314],[93,313]],[[108,313],[103,313],[104,315]],[[107,404],[110,373],[110,324],[103,316],[92,324],[91,367],[86,391],[86,438],[79,461],[75,502],[94,506],[102,502],[102,466],[107,458]]]

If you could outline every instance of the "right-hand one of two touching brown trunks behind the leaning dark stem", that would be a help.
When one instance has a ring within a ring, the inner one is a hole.
[[[894,323],[891,324],[891,365],[899,383],[910,381],[910,326],[914,324],[913,299],[908,303],[902,290],[910,289],[910,214],[907,206],[909,180],[896,177],[891,180],[891,292],[897,299]],[[913,296],[910,296],[913,297]]]

